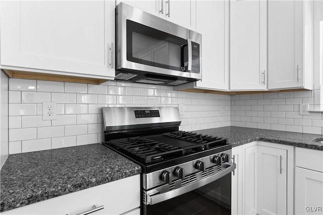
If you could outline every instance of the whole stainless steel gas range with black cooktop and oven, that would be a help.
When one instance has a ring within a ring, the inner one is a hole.
[[[104,146],[142,168],[142,214],[231,214],[232,146],[179,131],[175,107],[103,107]]]

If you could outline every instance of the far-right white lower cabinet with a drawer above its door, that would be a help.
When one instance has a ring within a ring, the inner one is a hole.
[[[323,151],[296,148],[295,165],[295,214],[323,214]]]

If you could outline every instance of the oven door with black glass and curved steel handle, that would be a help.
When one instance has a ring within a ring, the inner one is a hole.
[[[144,215],[231,214],[231,171],[221,177],[213,176],[176,190],[151,196],[151,204],[143,204]],[[215,180],[213,180],[215,179]],[[201,185],[201,186],[200,186]],[[186,192],[187,191],[187,192]],[[178,195],[179,193],[183,193]],[[160,196],[160,197],[159,197]]]

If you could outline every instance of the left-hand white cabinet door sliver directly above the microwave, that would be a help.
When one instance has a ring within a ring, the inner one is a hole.
[[[123,3],[126,3],[127,5],[143,10],[149,14],[163,17],[163,14],[161,14],[161,2],[158,0],[149,0],[149,1],[117,0],[116,2],[117,2],[117,5],[123,2]]]

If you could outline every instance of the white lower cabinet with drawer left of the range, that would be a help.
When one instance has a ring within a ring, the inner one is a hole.
[[[29,204],[1,214],[140,214],[140,175]]]

